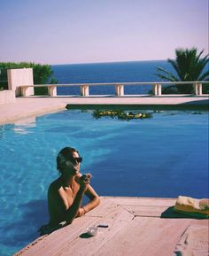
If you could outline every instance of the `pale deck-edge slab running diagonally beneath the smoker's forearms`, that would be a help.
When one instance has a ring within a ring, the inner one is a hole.
[[[104,213],[104,217],[102,217],[102,213]],[[119,213],[123,213],[123,215],[120,216]],[[27,245],[26,248],[20,250],[15,255],[56,255],[56,253],[62,251],[67,244],[74,241],[76,237],[80,237],[81,234],[85,233],[89,226],[98,225],[104,221],[106,223],[112,223],[116,218],[118,218],[118,221],[127,221],[130,218],[133,218],[131,213],[128,213],[128,211],[124,210],[120,206],[116,206],[113,202],[109,202],[108,199],[102,199],[102,204],[97,207],[97,211],[95,211],[93,215],[97,216],[86,214],[86,216],[75,219],[71,225],[68,225],[63,229],[58,229],[47,237],[40,237],[36,239],[33,243]]]

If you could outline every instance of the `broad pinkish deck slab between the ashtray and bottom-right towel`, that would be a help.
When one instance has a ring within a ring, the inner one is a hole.
[[[190,220],[135,217],[91,256],[168,256]]]

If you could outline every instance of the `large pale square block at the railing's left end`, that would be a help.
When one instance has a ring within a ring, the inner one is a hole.
[[[33,68],[17,68],[8,69],[8,88],[15,91],[15,96],[21,95],[19,86],[21,85],[34,85]],[[28,87],[25,91],[26,96],[34,95],[34,88]]]

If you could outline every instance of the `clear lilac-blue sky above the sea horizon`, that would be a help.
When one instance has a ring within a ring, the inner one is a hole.
[[[0,62],[42,64],[208,53],[208,0],[0,0]]]

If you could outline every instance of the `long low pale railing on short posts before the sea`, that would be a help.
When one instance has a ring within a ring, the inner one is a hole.
[[[163,85],[181,85],[181,84],[188,84],[193,85],[194,88],[194,95],[202,95],[202,86],[204,83],[209,83],[209,81],[146,81],[146,82],[98,82],[98,83],[69,83],[69,84],[37,84],[37,85],[20,85],[19,88],[21,89],[21,95],[23,97],[30,96],[29,88],[34,87],[47,87],[50,97],[57,96],[57,88],[58,87],[80,87],[80,92],[82,97],[89,96],[89,87],[90,86],[107,86],[113,85],[115,87],[115,96],[123,97],[124,95],[124,86],[129,85],[151,85],[152,92],[154,96],[161,96],[162,95],[162,86]]]

